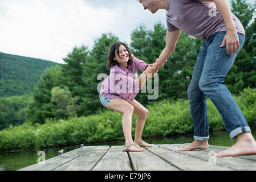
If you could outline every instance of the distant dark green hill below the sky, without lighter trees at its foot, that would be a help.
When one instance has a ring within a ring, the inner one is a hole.
[[[0,52],[0,97],[31,94],[44,70],[56,64]]]

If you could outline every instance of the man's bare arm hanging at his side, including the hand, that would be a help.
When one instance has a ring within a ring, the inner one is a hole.
[[[207,1],[207,0],[202,0]],[[229,7],[229,3],[227,0],[212,0],[220,11],[222,18],[224,19],[224,23],[226,26],[226,35],[223,39],[223,42],[220,47],[224,47],[226,44],[227,55],[232,56],[239,49],[239,39],[237,35],[237,30],[234,26],[234,21],[232,17],[232,13]]]

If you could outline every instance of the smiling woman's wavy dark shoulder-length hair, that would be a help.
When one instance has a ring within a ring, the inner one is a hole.
[[[108,60],[107,60],[107,67],[108,68],[111,68],[111,67],[113,67],[113,65],[116,65],[116,64],[120,67],[120,64],[117,61],[113,60],[113,58],[116,56],[115,55],[115,51],[119,55],[119,47],[121,45],[123,45],[127,49],[127,51],[128,51],[129,60],[128,60],[127,66],[129,66],[129,64],[132,63],[132,52],[131,52],[131,50],[124,43],[116,42],[109,49]]]

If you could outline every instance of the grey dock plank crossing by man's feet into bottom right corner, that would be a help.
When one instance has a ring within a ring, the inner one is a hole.
[[[159,146],[167,148],[168,150],[171,150],[171,151],[176,151],[176,152],[178,152],[178,148],[179,148],[178,146],[174,146],[170,144],[162,144]],[[212,148],[212,147],[209,147],[209,148]],[[208,150],[192,150],[192,151],[181,151],[180,153],[205,160],[206,162],[213,163],[214,165],[228,167],[234,170],[255,170],[256,169],[256,163],[254,161],[236,158],[233,156],[217,158],[216,156],[214,156],[214,154],[216,153],[216,151],[214,150],[209,150],[209,149]]]

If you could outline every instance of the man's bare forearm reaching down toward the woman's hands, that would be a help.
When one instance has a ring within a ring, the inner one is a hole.
[[[172,55],[176,47],[176,44],[178,42],[178,38],[180,38],[180,34],[181,34],[181,30],[167,32],[166,38],[165,38],[166,46],[164,50],[162,50],[157,64],[164,64],[165,61],[170,57],[170,55]]]

